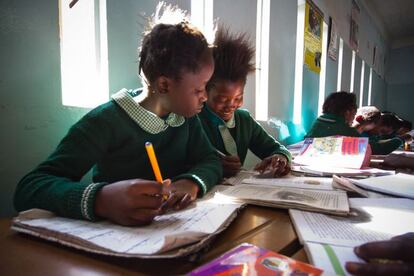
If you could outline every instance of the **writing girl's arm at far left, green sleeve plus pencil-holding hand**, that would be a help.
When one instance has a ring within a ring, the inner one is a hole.
[[[148,200],[147,195],[157,194],[160,184],[145,180],[129,184],[121,181],[111,185],[80,181],[114,147],[112,143],[116,139],[113,135],[117,133],[117,128],[123,127],[119,121],[114,122],[114,114],[108,116],[113,123],[99,114],[92,111],[76,123],[52,155],[19,182],[14,196],[18,211],[41,208],[60,216],[88,220],[103,217],[123,224],[132,224],[131,220],[134,224],[152,220],[156,213],[154,207],[161,205],[159,199]],[[143,190],[135,191],[138,186]],[[134,194],[145,200],[131,202]],[[123,214],[122,211],[128,206],[133,206],[135,212]],[[141,211],[142,214],[139,214]],[[126,220],[122,215],[129,216],[131,220]]]

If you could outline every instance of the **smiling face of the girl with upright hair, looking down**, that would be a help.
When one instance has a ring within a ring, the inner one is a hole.
[[[208,91],[208,107],[227,122],[236,109],[243,105],[244,85],[245,82],[242,80],[217,81]]]

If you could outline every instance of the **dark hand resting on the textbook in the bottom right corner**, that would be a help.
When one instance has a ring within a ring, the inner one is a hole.
[[[363,244],[355,254],[367,263],[348,262],[345,267],[351,274],[414,275],[414,233]]]

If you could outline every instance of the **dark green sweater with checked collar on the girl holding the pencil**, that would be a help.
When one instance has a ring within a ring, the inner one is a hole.
[[[219,158],[197,116],[166,118],[144,109],[126,89],[73,125],[49,158],[18,184],[18,211],[42,208],[61,216],[96,219],[96,193],[110,183],[154,180],[145,149],[151,142],[164,178],[191,179],[204,195],[222,177]],[[93,168],[93,183],[81,178]]]

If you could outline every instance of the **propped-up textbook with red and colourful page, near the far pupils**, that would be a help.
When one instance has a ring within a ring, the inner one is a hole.
[[[362,168],[367,158],[367,137],[329,136],[306,138],[294,163],[327,168]]]

